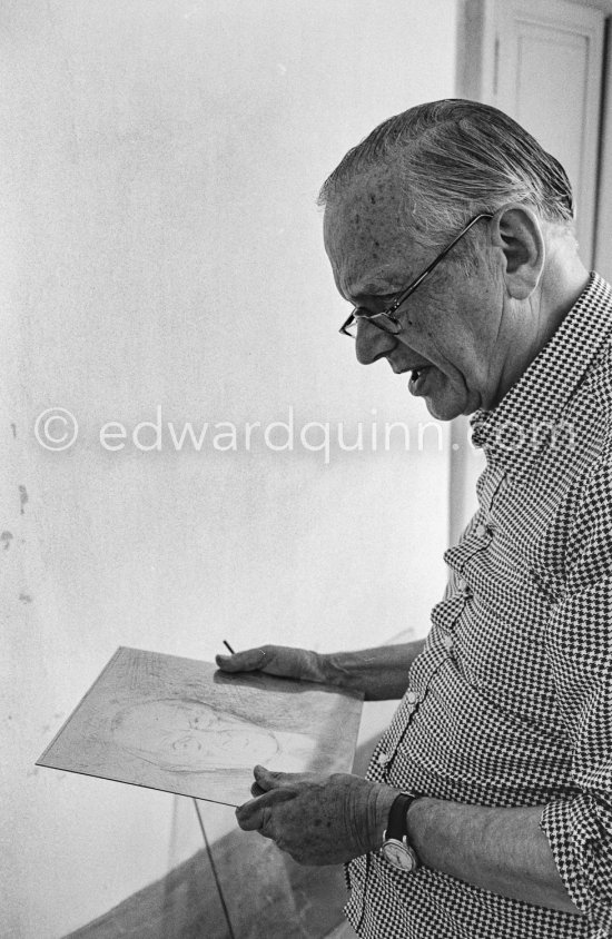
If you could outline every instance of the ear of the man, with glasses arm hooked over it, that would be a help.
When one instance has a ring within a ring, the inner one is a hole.
[[[535,290],[545,258],[542,225],[527,206],[512,204],[497,209],[491,219],[493,245],[501,248],[507,291],[525,300]]]

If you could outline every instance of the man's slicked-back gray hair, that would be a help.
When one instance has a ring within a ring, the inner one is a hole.
[[[478,212],[523,202],[573,228],[567,175],[516,121],[488,105],[446,99],[417,105],[378,125],[353,147],[323,185],[318,204],[332,205],[359,175],[376,166],[398,170],[418,240],[438,247]]]

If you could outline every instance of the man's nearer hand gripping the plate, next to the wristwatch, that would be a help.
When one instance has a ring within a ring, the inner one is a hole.
[[[302,864],[337,864],[379,848],[399,790],[348,773],[279,773],[255,767],[256,797],[236,809],[245,831],[272,838]]]

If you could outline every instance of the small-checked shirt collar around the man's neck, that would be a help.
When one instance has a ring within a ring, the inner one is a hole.
[[[476,411],[472,442],[487,456],[523,451],[537,428],[553,426],[584,380],[612,329],[612,288],[591,274],[574,306],[519,382],[493,411]]]

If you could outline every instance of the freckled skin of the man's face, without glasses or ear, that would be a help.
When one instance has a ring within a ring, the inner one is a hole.
[[[372,312],[388,306],[438,253],[418,243],[418,227],[401,192],[394,171],[377,168],[325,214],[325,247],[336,286],[349,303]],[[536,295],[520,303],[512,298],[504,283],[504,251],[487,236],[486,220],[476,228],[481,259],[475,270],[467,276],[457,264],[461,255],[451,253],[402,306],[404,330],[397,340],[372,324],[358,327],[361,363],[386,358],[397,374],[434,366],[425,402],[443,421],[494,407],[539,344]]]

